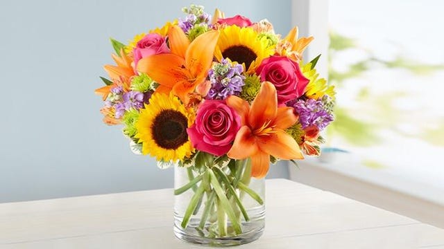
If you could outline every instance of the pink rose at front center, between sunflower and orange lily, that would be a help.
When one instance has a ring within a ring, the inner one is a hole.
[[[241,117],[225,100],[205,100],[197,111],[196,122],[187,129],[189,140],[200,151],[222,156],[232,146]]]

